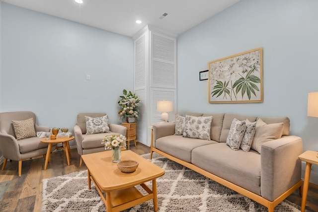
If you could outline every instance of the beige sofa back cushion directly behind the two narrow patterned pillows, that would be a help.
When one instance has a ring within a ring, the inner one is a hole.
[[[223,126],[222,126],[222,130],[221,130],[221,137],[220,137],[220,142],[226,142],[229,132],[230,132],[230,128],[232,125],[232,122],[234,119],[237,119],[239,121],[243,121],[248,119],[250,122],[255,122],[256,121],[256,117],[255,116],[243,116],[243,115],[236,115],[236,114],[230,114],[230,113],[226,113],[224,115],[224,120],[223,120]]]

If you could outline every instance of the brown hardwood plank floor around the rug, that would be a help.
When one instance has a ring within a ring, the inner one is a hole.
[[[150,147],[139,142],[135,147],[131,142],[130,150],[141,155],[149,153]],[[86,170],[84,163],[79,167],[77,149],[72,148],[71,152],[70,166],[67,165],[66,157],[62,157],[61,149],[52,153],[47,170],[43,170],[43,157],[23,161],[21,177],[18,177],[18,162],[8,161],[5,169],[0,170],[0,212],[40,212],[43,179]],[[301,206],[298,190],[287,199]],[[318,185],[310,184],[306,212],[318,212]]]

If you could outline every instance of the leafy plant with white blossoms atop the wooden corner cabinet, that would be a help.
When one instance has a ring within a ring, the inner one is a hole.
[[[138,96],[131,91],[127,92],[127,90],[123,90],[124,96],[120,96],[121,100],[118,101],[118,105],[121,107],[118,114],[121,118],[125,117],[135,117],[139,118],[139,102],[140,99]]]

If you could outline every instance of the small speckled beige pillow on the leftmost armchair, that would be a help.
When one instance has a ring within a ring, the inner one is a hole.
[[[23,121],[12,120],[12,123],[17,141],[36,137],[33,118]]]

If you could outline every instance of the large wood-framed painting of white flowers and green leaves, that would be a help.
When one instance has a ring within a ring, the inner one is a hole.
[[[211,61],[209,103],[263,102],[262,48]]]

